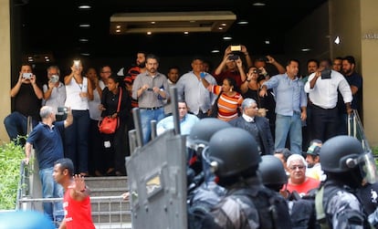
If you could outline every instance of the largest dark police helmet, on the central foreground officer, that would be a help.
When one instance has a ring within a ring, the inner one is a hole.
[[[252,168],[257,170],[261,161],[254,137],[240,128],[217,131],[210,139],[207,151],[212,168],[220,178],[240,175]]]

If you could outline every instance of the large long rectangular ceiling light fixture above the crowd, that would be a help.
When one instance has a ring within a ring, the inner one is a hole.
[[[236,20],[231,11],[144,12],[120,13],[110,16],[110,34],[122,25],[122,34],[225,32]],[[155,24],[152,25],[152,22]],[[220,26],[222,30],[218,29]]]

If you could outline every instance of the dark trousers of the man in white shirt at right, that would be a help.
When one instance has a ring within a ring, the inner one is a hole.
[[[311,130],[314,139],[324,142],[338,135],[339,115],[337,108],[322,109],[311,105],[311,112]]]

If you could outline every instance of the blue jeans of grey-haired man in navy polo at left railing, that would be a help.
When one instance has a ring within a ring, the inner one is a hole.
[[[42,182],[43,198],[61,198],[63,197],[63,187],[54,181],[54,168],[46,168],[39,170],[39,178]],[[63,204],[61,201],[54,203],[43,203],[43,209],[47,217],[51,221],[62,221],[64,218]]]

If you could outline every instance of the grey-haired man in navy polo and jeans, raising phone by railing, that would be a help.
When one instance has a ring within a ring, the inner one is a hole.
[[[43,198],[63,197],[63,188],[54,181],[52,173],[54,162],[64,157],[63,131],[73,121],[70,108],[68,108],[67,119],[62,121],[56,121],[54,110],[49,106],[40,109],[39,115],[42,121],[30,132],[25,145],[26,159],[24,161],[26,163],[29,162],[32,147],[36,149]],[[43,203],[43,208],[52,221],[59,222],[64,218],[61,202]]]

